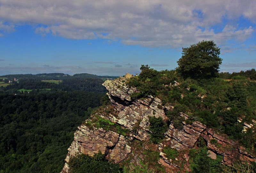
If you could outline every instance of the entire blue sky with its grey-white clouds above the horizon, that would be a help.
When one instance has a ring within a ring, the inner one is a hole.
[[[0,75],[173,69],[200,40],[220,46],[220,71],[255,68],[254,9],[253,0],[0,0]]]

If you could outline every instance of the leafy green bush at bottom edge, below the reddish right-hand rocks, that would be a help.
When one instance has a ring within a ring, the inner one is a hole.
[[[219,173],[221,172],[222,156],[217,155],[213,160],[208,156],[207,148],[191,149],[189,151],[190,168],[193,173]]]

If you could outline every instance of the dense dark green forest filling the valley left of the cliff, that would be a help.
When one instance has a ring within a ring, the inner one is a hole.
[[[106,90],[99,76],[56,75],[5,76],[19,82],[0,88],[1,173],[60,172],[77,126],[100,106]]]

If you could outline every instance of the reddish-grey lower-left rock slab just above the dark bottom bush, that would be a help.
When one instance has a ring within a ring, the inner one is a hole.
[[[68,148],[68,155],[65,159],[66,163],[61,171],[68,172],[68,164],[70,157],[76,154],[87,154],[93,156],[101,152],[107,155],[109,160],[119,163],[131,152],[131,147],[126,144],[124,136],[112,131],[100,129],[89,129],[87,126],[80,126],[74,133],[74,141]]]

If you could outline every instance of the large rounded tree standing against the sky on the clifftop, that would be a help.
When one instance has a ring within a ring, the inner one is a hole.
[[[185,78],[209,78],[218,74],[220,48],[214,41],[201,41],[182,48],[182,57],[177,61],[179,71]]]

